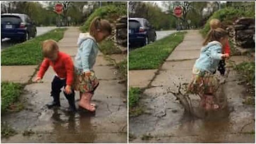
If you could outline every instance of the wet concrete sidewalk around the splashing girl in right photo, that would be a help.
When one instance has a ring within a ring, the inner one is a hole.
[[[222,87],[227,107],[207,114],[197,111],[198,115],[207,117],[198,118],[185,113],[185,108],[177,97],[169,92],[177,92],[179,83],[190,81],[191,70],[195,58],[199,56],[202,42],[198,31],[189,31],[184,41],[158,70],[139,103],[144,113],[129,118],[131,143],[255,141],[255,107],[243,104],[246,97],[254,95],[246,93],[246,87],[239,84],[238,75],[231,68]],[[232,60],[239,61],[241,58]],[[193,102],[198,100],[198,97],[191,99]],[[198,106],[198,103],[194,106]]]

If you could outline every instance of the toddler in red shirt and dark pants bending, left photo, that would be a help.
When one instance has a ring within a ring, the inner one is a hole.
[[[71,57],[59,51],[57,42],[52,39],[46,40],[42,44],[44,60],[39,68],[36,82],[40,82],[49,66],[52,66],[55,71],[55,76],[52,81],[51,96],[53,101],[46,106],[48,108],[60,107],[60,92],[61,88],[65,87],[64,95],[68,100],[69,109],[76,111],[75,106],[75,91],[72,88],[74,77],[74,65]]]

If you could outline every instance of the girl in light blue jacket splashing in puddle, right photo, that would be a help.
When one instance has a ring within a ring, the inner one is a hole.
[[[217,103],[214,103],[214,93],[219,86],[219,79],[214,76],[214,71],[220,60],[229,57],[228,53],[222,54],[227,39],[228,33],[224,29],[211,30],[193,67],[193,78],[188,86],[188,92],[198,94],[201,98],[200,105],[206,110],[219,108]]]

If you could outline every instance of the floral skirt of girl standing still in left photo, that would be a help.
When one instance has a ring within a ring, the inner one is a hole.
[[[94,71],[91,71],[91,75],[87,76],[75,68],[75,76],[74,76],[74,89],[75,91],[79,91],[82,93],[86,92],[94,92],[94,90],[99,85],[99,80],[95,76]]]

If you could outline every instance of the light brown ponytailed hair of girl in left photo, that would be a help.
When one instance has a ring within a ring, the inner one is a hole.
[[[96,17],[91,22],[89,32],[90,32],[90,35],[95,38],[95,37],[97,37],[97,33],[99,31],[107,32],[110,35],[111,31],[112,31],[112,27],[111,27],[109,21],[102,20],[99,17]]]

